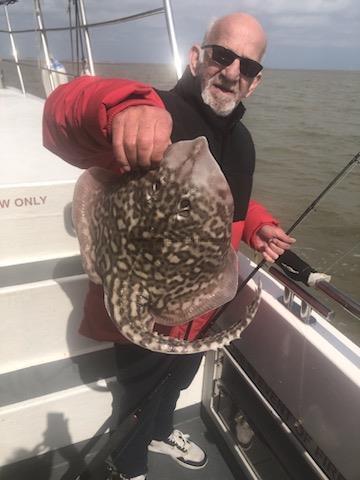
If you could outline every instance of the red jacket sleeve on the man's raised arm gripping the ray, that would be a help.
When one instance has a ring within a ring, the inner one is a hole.
[[[149,85],[117,78],[76,78],[60,85],[47,99],[43,144],[77,167],[113,168],[112,119],[136,105],[164,108]]]

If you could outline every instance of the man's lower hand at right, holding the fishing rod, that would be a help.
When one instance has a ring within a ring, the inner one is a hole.
[[[275,225],[264,225],[256,231],[253,238],[255,250],[261,252],[264,259],[271,263],[295,242],[295,238],[289,237],[281,227]]]

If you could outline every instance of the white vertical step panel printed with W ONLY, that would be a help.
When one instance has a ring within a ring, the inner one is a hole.
[[[76,255],[74,181],[0,187],[0,266]]]

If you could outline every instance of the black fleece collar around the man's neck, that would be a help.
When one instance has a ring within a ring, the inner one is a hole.
[[[192,75],[189,66],[186,67],[183,76],[172,91],[199,109],[201,115],[205,117],[208,123],[215,129],[223,132],[231,130],[235,124],[241,120],[246,110],[244,105],[239,103],[227,117],[216,115],[216,113],[203,102],[199,78]]]

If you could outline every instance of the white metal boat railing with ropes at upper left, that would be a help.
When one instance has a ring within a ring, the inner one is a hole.
[[[170,47],[172,51],[174,67],[176,71],[176,75],[178,78],[181,76],[182,67],[181,67],[181,60],[179,55],[179,49],[175,34],[175,27],[174,27],[174,20],[173,20],[173,13],[170,0],[163,0],[162,6],[158,8],[153,8],[151,10],[142,11],[139,13],[135,13],[128,16],[123,16],[119,18],[114,18],[111,20],[106,20],[102,22],[93,22],[88,23],[86,17],[86,10],[85,10],[85,2],[84,0],[77,0],[76,5],[78,6],[78,21],[76,25],[69,25],[69,26],[59,26],[59,27],[49,27],[46,28],[44,24],[44,18],[42,14],[42,8],[40,0],[33,0],[34,1],[34,12],[35,12],[35,19],[36,19],[36,27],[35,28],[26,28],[26,29],[13,29],[10,21],[9,15],[9,6],[13,3],[16,3],[17,0],[0,0],[0,5],[4,8],[5,20],[7,29],[0,29],[0,34],[6,34],[9,36],[11,50],[12,50],[12,57],[11,59],[0,59],[1,62],[11,63],[16,66],[17,76],[19,78],[21,91],[25,95],[25,83],[24,77],[22,73],[21,67],[30,67],[36,68],[41,70],[42,72],[47,72],[49,76],[50,82],[50,89],[49,92],[53,91],[59,84],[59,77],[65,77],[65,81],[67,81],[68,77],[74,78],[79,76],[80,74],[89,74],[95,75],[95,66],[91,48],[91,39],[90,39],[90,29],[92,28],[100,28],[100,27],[107,27],[110,25],[116,25],[126,22],[132,22],[136,20],[140,20],[146,17],[154,16],[154,15],[164,15],[166,21],[166,27],[170,42]],[[54,65],[54,61],[51,58],[49,53],[49,42],[47,39],[48,32],[59,32],[59,31],[67,31],[72,33],[73,31],[77,32],[77,34],[81,35],[81,38],[84,40],[85,44],[85,51],[86,51],[86,58],[82,59],[82,68],[81,70],[78,69],[78,72],[67,72],[63,68],[56,68]],[[42,46],[42,53],[45,59],[45,65],[34,65],[29,62],[21,61],[19,59],[18,50],[16,47],[15,36],[18,34],[24,33],[38,33],[40,35],[41,46]],[[1,82],[0,82],[1,83]],[[61,83],[61,82],[60,82]],[[48,93],[49,93],[48,92]]]

